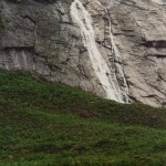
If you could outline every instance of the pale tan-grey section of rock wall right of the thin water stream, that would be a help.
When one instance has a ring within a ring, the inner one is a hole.
[[[148,0],[117,2],[111,11],[123,54],[129,95],[160,106],[166,102],[166,8]]]

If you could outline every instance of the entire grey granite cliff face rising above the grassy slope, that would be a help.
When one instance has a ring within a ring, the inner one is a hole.
[[[0,66],[103,97],[113,89],[122,103],[165,106],[166,2],[80,0],[81,6],[77,1],[73,7],[73,0],[1,0]],[[94,39],[89,41],[91,28]],[[101,65],[91,58],[95,54],[102,56]],[[98,74],[105,66],[108,79]]]

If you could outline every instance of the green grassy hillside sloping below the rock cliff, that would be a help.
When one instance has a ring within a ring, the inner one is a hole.
[[[164,166],[166,110],[0,70],[0,166]]]

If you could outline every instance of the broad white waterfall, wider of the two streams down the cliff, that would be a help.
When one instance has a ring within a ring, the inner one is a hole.
[[[120,103],[124,103],[124,98],[120,89],[117,89],[113,82],[114,77],[112,77],[111,70],[97,49],[91,14],[80,0],[75,0],[72,3],[71,15],[73,21],[80,27],[82,31],[84,45],[89,51],[94,72],[106,93],[106,97]],[[113,38],[111,37],[111,39]],[[115,46],[115,44],[113,46]]]

